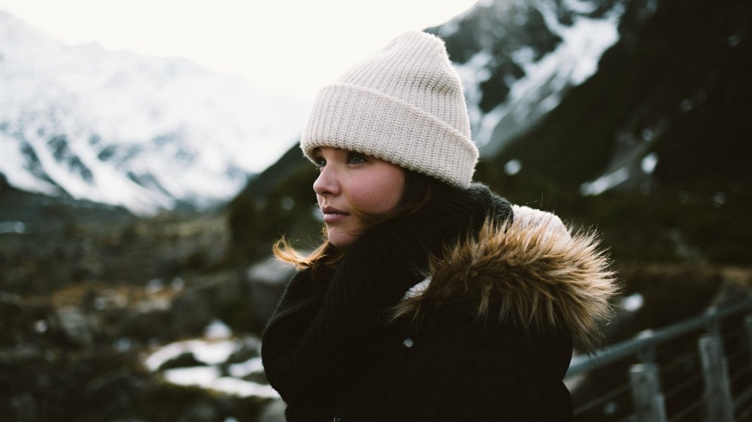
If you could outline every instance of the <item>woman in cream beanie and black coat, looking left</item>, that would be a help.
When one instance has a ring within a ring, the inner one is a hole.
[[[326,241],[275,248],[299,268],[262,341],[287,420],[571,420],[612,274],[593,237],[472,184],[443,41],[400,35],[326,86],[301,147]]]

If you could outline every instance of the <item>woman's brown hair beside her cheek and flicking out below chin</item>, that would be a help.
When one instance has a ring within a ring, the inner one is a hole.
[[[395,209],[385,214],[369,214],[359,209],[355,209],[354,213],[369,226],[376,225],[380,222],[385,222],[396,217],[408,216],[416,212],[432,196],[447,188],[450,187],[438,179],[405,169],[405,191],[402,192],[402,197],[399,199],[399,203],[397,203]],[[296,251],[284,237],[277,240],[271,250],[274,252],[275,258],[295,265],[298,270],[332,267],[342,258],[343,252],[341,249],[333,246],[326,238],[326,228],[323,230],[323,243],[308,255],[303,255]]]

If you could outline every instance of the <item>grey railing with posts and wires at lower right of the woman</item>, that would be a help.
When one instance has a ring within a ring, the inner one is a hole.
[[[592,394],[573,395],[575,420],[752,420],[752,300],[575,357],[578,378]]]

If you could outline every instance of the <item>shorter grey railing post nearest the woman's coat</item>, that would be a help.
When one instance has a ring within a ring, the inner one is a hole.
[[[660,390],[658,369],[653,363],[638,363],[629,368],[629,384],[635,402],[635,418],[641,422],[666,422],[666,405]]]

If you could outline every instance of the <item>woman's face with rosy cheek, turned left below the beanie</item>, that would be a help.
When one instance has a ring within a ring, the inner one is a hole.
[[[357,215],[393,210],[405,191],[405,171],[390,162],[349,149],[322,146],[314,152],[319,176],[314,191],[329,242],[352,245],[367,224]]]

